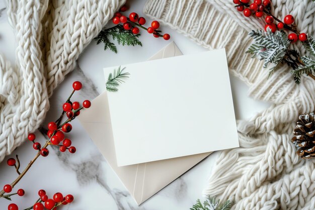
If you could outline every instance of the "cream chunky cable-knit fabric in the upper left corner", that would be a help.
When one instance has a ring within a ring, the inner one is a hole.
[[[16,64],[0,55],[0,162],[43,121],[48,97],[124,4],[118,0],[8,0]]]

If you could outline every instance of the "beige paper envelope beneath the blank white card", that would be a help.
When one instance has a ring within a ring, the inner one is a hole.
[[[182,53],[175,43],[171,42],[150,59],[177,55]],[[211,154],[204,153],[118,167],[107,92],[95,98],[91,108],[83,109],[77,118],[138,205]]]

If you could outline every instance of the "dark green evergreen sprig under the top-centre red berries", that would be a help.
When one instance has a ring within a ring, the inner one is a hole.
[[[104,50],[110,49],[117,53],[117,47],[109,37],[112,37],[113,40],[117,40],[117,43],[123,46],[142,46],[142,43],[138,39],[139,36],[140,34],[133,34],[130,30],[125,30],[123,26],[119,24],[112,28],[104,28],[94,40],[97,41],[97,44],[103,42]]]

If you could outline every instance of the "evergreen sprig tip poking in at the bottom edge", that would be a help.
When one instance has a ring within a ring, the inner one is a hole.
[[[197,199],[196,204],[190,210],[229,210],[230,208],[231,202],[229,200],[220,203],[220,199],[216,201],[215,197],[208,196],[203,203],[201,203],[200,199]]]

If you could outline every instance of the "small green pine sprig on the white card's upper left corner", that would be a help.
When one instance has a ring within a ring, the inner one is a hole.
[[[122,69],[120,69],[120,66],[118,67],[117,71],[116,69],[114,69],[114,73],[110,73],[108,75],[108,79],[106,82],[106,90],[109,92],[117,92],[118,91],[118,86],[121,83],[124,83],[123,79],[124,78],[129,78],[129,73],[125,72],[123,73],[124,69],[126,67],[123,67]]]

